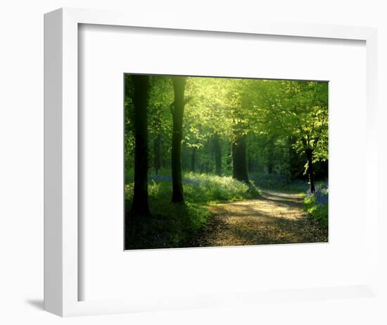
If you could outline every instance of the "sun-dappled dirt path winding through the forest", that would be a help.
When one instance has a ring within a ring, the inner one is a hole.
[[[298,194],[264,190],[258,200],[208,207],[215,213],[200,246],[322,243],[328,234],[303,211]]]

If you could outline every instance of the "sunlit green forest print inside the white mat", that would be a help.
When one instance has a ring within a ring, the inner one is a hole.
[[[328,242],[329,82],[124,83],[125,250]]]

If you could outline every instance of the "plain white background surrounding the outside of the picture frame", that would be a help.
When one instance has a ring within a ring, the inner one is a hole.
[[[0,7],[0,323],[1,324],[386,324],[373,298],[294,302],[239,309],[60,319],[43,305],[43,13],[62,6],[139,15],[278,20],[379,28],[379,197],[386,181],[387,9],[377,0],[13,0]],[[359,154],[362,154],[361,152]],[[359,190],[362,190],[361,188]],[[380,214],[386,209],[380,205]],[[386,221],[379,223],[386,247]],[[361,238],[360,238],[361,240]],[[386,252],[386,250],[384,250]],[[381,271],[387,274],[386,257]],[[386,280],[383,281],[386,292]],[[379,300],[380,301],[380,300]],[[386,302],[384,302],[386,305]]]

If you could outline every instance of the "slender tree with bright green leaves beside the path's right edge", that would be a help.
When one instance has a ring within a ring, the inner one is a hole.
[[[263,80],[260,105],[267,135],[287,139],[305,155],[310,191],[315,192],[314,164],[328,159],[328,83]]]

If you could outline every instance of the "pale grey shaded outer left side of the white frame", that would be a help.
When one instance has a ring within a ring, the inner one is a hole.
[[[63,316],[63,10],[44,15],[44,310]]]

